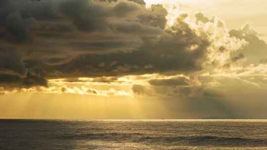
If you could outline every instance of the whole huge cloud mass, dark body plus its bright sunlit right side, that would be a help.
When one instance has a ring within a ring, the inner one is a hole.
[[[156,74],[168,77],[142,80],[149,86],[132,81],[133,92],[192,95],[201,73],[230,71],[251,60],[251,45],[266,47],[248,24],[229,32],[218,17],[172,17],[165,5],[146,8],[143,0],[4,0],[0,7],[0,86],[9,89]],[[263,65],[244,67],[244,74]]]

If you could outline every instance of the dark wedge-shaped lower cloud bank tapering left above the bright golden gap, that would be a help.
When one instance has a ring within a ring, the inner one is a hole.
[[[178,28],[182,29],[182,28]],[[108,55],[86,55],[70,63],[57,66],[65,75],[76,73],[78,76],[139,75],[148,73],[190,73],[202,69],[204,51],[208,42],[196,35],[182,36],[170,33],[157,43],[147,43],[133,52],[119,52]],[[188,43],[183,40],[189,38]],[[198,49],[189,51],[190,45],[199,45]],[[104,63],[102,67],[99,64]],[[85,65],[86,64],[86,65]]]

